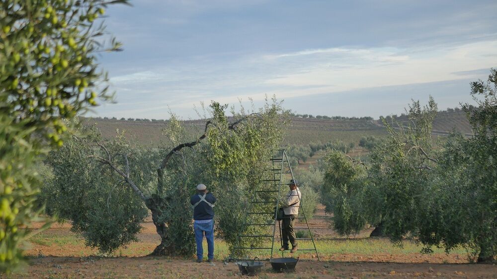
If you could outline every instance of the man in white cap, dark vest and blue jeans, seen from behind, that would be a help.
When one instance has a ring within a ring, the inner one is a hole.
[[[203,184],[197,185],[197,194],[191,196],[190,203],[193,206],[193,230],[195,231],[195,242],[197,243],[197,263],[201,263],[204,257],[202,240],[207,239],[208,262],[214,260],[214,203],[216,198],[208,193]]]

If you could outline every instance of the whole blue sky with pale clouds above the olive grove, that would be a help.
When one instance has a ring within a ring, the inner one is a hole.
[[[104,117],[198,118],[211,100],[295,113],[400,114],[412,99],[471,102],[497,68],[495,0],[132,0],[103,19],[123,43],[99,56]],[[238,105],[237,105],[238,106]]]

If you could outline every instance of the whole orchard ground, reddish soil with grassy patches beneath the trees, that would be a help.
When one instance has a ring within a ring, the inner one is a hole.
[[[340,238],[331,228],[321,206],[309,221],[318,239],[321,262],[312,255],[299,254],[295,273],[280,274],[265,262],[256,278],[497,278],[496,265],[469,264],[461,252],[419,254],[420,248],[387,248],[386,239],[367,239],[371,229],[349,238]],[[34,227],[41,224],[35,224]],[[143,223],[140,242],[116,252],[113,257],[98,257],[96,250],[84,246],[83,239],[70,231],[70,224],[54,224],[27,247],[29,266],[19,273],[0,278],[237,278],[235,263],[223,264],[226,254],[216,252],[212,264],[191,258],[152,257],[159,236],[151,220]],[[409,244],[409,242],[407,242]],[[222,244],[220,243],[220,246]],[[217,246],[217,247],[220,247]],[[351,247],[354,246],[354,247]],[[412,246],[412,245],[411,245]],[[218,249],[218,248],[216,248]],[[227,249],[219,248],[219,250]],[[285,256],[289,256],[286,254]]]

